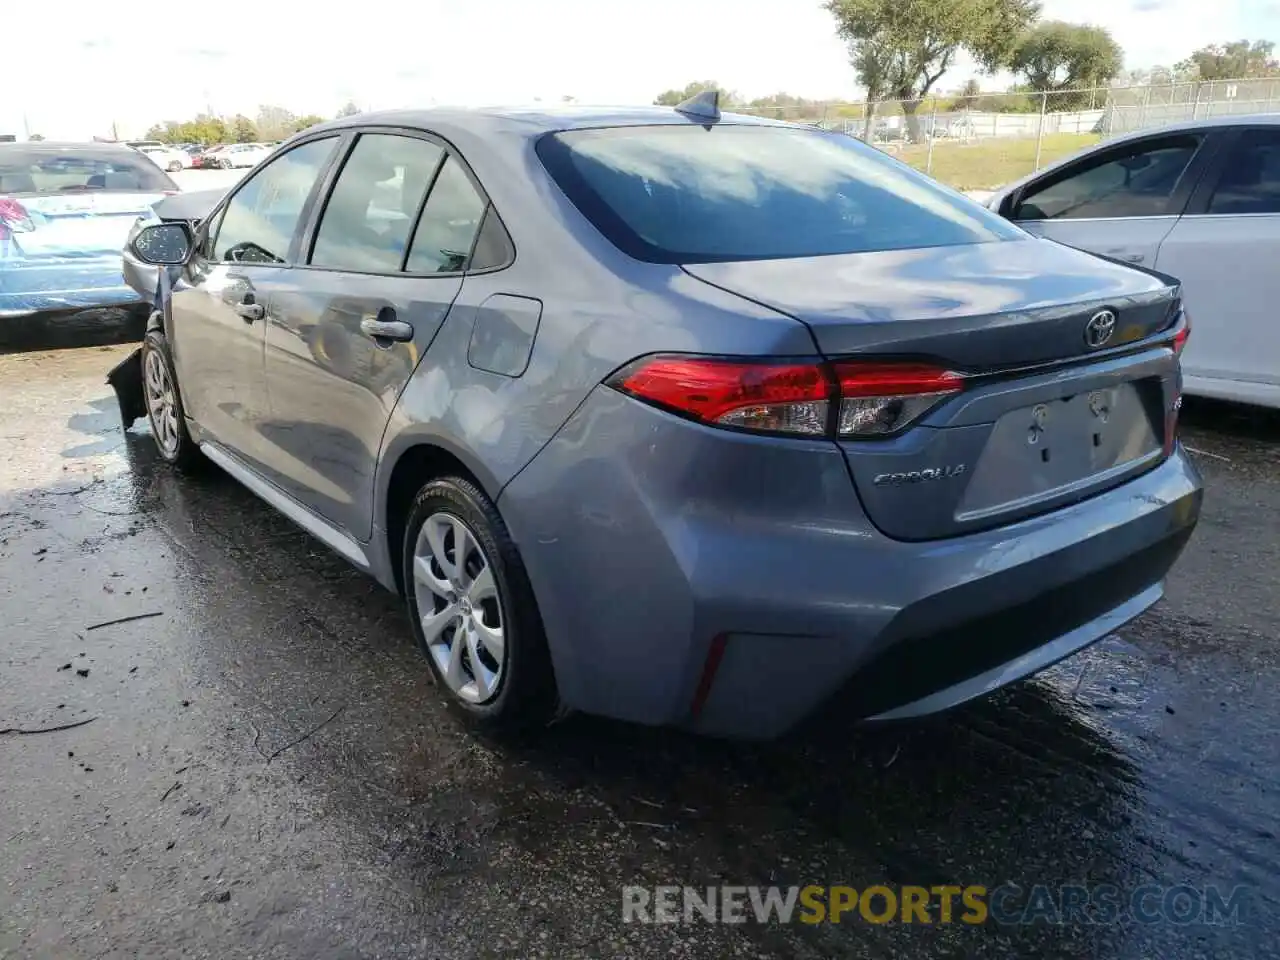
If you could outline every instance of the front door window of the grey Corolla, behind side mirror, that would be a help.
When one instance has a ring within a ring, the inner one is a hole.
[[[337,143],[337,137],[326,137],[294,147],[237,191],[218,224],[214,260],[283,264],[307,197]]]

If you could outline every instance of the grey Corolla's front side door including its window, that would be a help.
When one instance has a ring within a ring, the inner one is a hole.
[[[253,173],[207,220],[174,283],[170,339],[187,416],[201,436],[260,466],[268,413],[264,344],[271,289],[337,137],[310,141]]]

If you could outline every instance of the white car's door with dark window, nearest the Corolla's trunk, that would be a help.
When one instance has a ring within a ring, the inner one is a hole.
[[[1125,141],[1032,180],[1000,212],[1039,237],[1152,266],[1215,147],[1204,131]]]

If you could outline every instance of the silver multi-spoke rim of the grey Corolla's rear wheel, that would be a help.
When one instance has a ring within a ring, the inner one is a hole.
[[[506,666],[502,596],[475,531],[433,513],[413,545],[413,591],[426,649],[449,689],[468,703],[498,694]]]

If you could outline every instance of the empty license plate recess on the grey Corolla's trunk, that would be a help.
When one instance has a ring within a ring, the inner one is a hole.
[[[1158,460],[1161,438],[1139,389],[1125,383],[1012,410],[991,430],[956,509],[973,521],[1103,485]]]

